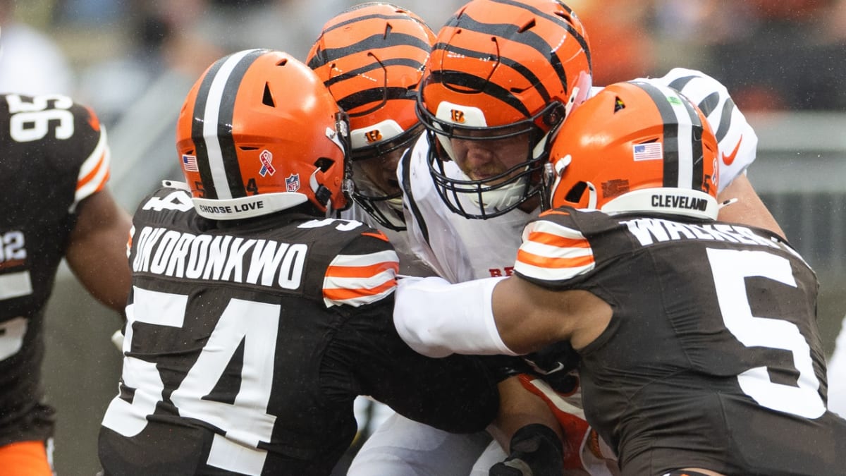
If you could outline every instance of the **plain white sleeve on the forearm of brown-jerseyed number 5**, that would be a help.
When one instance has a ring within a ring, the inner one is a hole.
[[[393,324],[409,347],[428,357],[518,355],[505,345],[493,318],[493,288],[503,279],[457,285],[437,277],[399,280]]]

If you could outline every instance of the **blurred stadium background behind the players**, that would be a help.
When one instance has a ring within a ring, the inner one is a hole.
[[[305,58],[321,25],[354,3],[0,0],[0,89],[44,81],[95,108],[112,145],[112,191],[131,212],[160,180],[179,178],[176,117],[208,64],[246,47]],[[392,3],[437,31],[463,2]],[[683,66],[728,86],[760,139],[750,180],[820,278],[830,354],[846,310],[846,0],[566,3],[589,32],[596,85]],[[109,336],[119,324],[61,269],[44,368],[59,411],[59,476],[99,469],[97,429],[120,372]]]

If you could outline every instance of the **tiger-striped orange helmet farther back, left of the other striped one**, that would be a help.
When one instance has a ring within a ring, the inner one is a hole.
[[[422,133],[415,114],[416,88],[434,42],[426,22],[408,10],[391,3],[362,3],[323,25],[306,60],[349,114],[354,200],[393,230],[405,229],[398,181],[393,175],[371,180],[362,163],[386,160]],[[393,169],[388,172],[396,169],[395,160],[383,165]]]

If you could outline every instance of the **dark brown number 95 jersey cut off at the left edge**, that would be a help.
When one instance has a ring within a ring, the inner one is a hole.
[[[0,445],[52,435],[44,308],[87,196],[109,174],[106,132],[69,97],[0,95]]]

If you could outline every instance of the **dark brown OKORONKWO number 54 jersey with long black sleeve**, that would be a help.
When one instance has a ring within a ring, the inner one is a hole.
[[[328,474],[359,395],[447,430],[495,415],[495,380],[475,357],[429,359],[397,335],[397,255],[379,231],[297,213],[228,225],[174,188],[133,225],[107,474]]]

